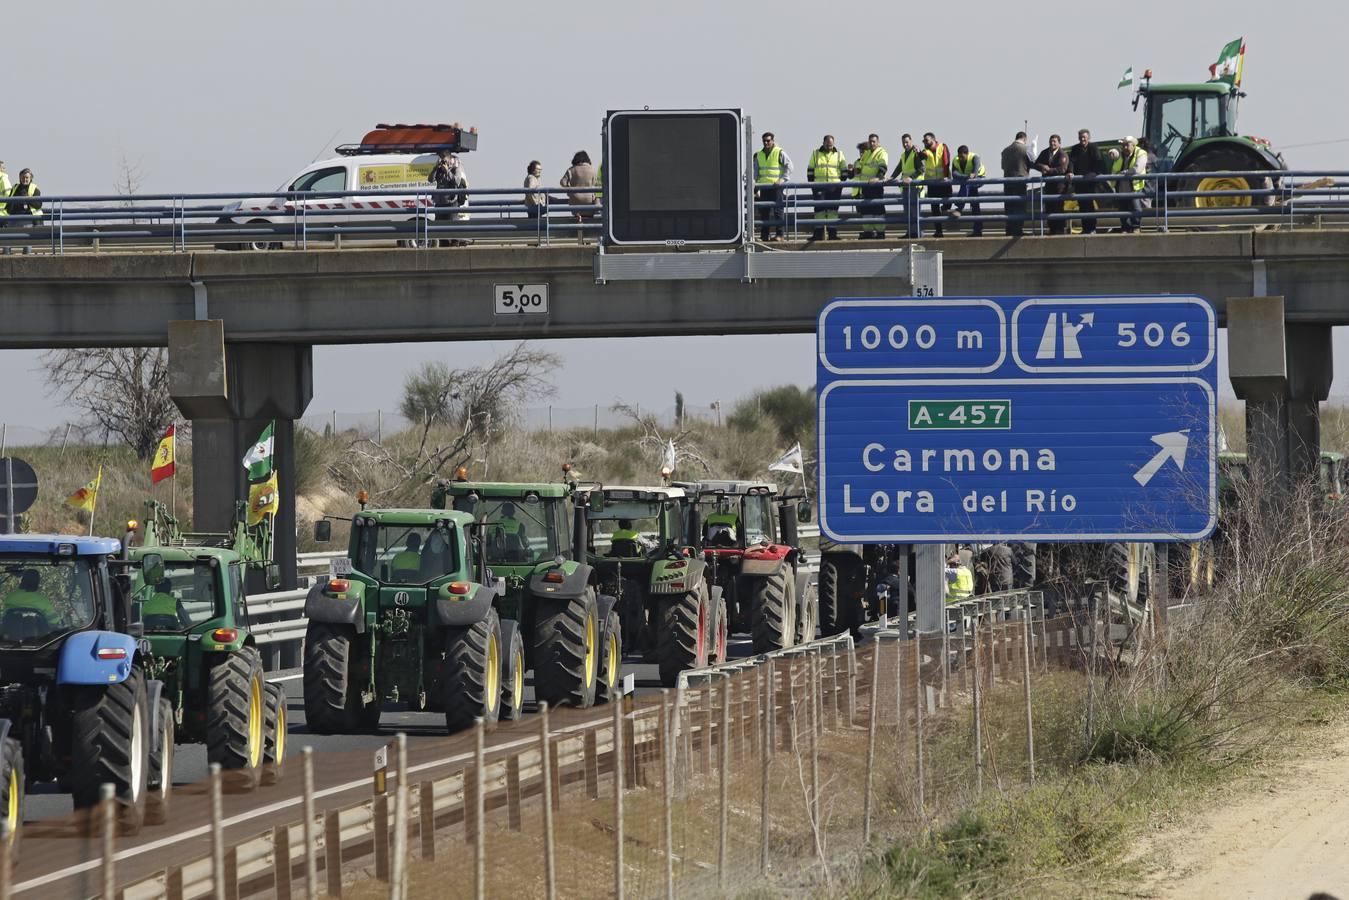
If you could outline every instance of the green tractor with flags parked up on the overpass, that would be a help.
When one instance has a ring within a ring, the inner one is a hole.
[[[1264,138],[1237,132],[1237,101],[1245,93],[1225,82],[1152,84],[1148,70],[1133,96],[1133,108],[1143,103],[1144,148],[1152,171],[1194,173],[1171,181],[1167,190],[1241,192],[1268,190],[1273,173],[1287,169],[1283,155]],[[1102,150],[1106,150],[1102,146]],[[1268,171],[1267,177],[1226,175],[1225,171]],[[1159,188],[1160,190],[1160,188]],[[1215,206],[1273,205],[1264,194],[1228,194],[1176,198],[1172,206],[1211,209]]]

